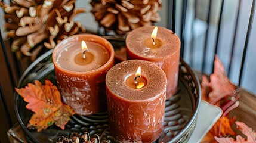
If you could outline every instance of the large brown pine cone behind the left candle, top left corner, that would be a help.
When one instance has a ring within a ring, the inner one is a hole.
[[[75,8],[75,0],[13,0],[8,5],[0,0],[0,6],[17,58],[29,56],[33,61],[43,49],[52,49],[67,36],[85,32],[81,23],[72,21],[85,11]]]

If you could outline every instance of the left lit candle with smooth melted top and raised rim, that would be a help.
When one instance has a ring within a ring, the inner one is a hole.
[[[81,48],[82,41],[88,49]],[[63,101],[76,114],[106,110],[105,78],[114,64],[114,49],[106,39],[91,34],[70,36],[55,46],[53,63]]]

